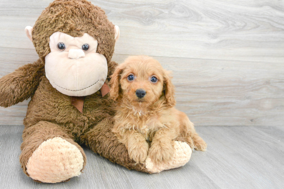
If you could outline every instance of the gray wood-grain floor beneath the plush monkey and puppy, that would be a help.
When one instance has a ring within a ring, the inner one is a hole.
[[[147,174],[129,171],[84,148],[87,165],[68,182],[34,182],[19,164],[23,126],[0,126],[1,188],[283,188],[284,127],[198,127],[206,152],[185,166]]]

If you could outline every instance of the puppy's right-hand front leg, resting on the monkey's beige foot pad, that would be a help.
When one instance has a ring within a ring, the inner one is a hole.
[[[160,129],[155,133],[149,150],[149,156],[153,162],[160,164],[172,160],[174,155],[172,138],[172,132],[168,128]]]

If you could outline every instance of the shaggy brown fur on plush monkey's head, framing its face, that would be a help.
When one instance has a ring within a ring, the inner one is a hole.
[[[88,33],[98,40],[97,53],[109,62],[114,52],[114,25],[105,12],[86,0],[56,0],[45,8],[32,30],[32,41],[39,57],[50,53],[49,37],[60,31],[72,37]]]

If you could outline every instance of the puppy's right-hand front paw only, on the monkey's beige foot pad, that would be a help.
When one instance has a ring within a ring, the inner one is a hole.
[[[174,147],[169,143],[152,143],[149,150],[151,160],[156,164],[167,163],[173,159]]]

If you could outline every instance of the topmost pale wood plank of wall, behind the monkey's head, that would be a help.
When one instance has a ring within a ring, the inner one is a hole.
[[[52,0],[1,0],[1,47],[30,48],[33,26]],[[120,27],[116,54],[283,63],[284,2],[99,0]]]

